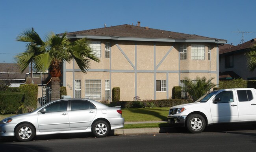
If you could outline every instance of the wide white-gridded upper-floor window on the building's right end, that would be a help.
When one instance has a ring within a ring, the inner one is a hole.
[[[205,60],[205,45],[191,45],[191,60]]]

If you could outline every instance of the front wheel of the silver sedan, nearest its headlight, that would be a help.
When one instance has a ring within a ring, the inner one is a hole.
[[[32,125],[23,123],[15,130],[15,137],[19,141],[31,141],[35,136],[35,129]]]

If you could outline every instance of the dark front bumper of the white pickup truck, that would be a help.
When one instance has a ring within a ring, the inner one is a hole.
[[[185,127],[187,116],[167,116],[167,123],[174,127]]]

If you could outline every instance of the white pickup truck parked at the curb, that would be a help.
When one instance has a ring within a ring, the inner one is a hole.
[[[215,123],[256,122],[256,90],[223,89],[209,92],[194,103],[171,107],[167,123],[200,133]]]

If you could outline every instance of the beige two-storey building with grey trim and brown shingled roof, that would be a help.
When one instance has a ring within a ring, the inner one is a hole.
[[[59,34],[61,35],[61,34]],[[87,74],[76,62],[63,64],[63,85],[72,98],[111,100],[120,87],[120,100],[169,99],[185,77],[214,77],[218,84],[218,45],[226,40],[149,27],[117,25],[67,33],[89,38],[101,62],[91,62]]]

